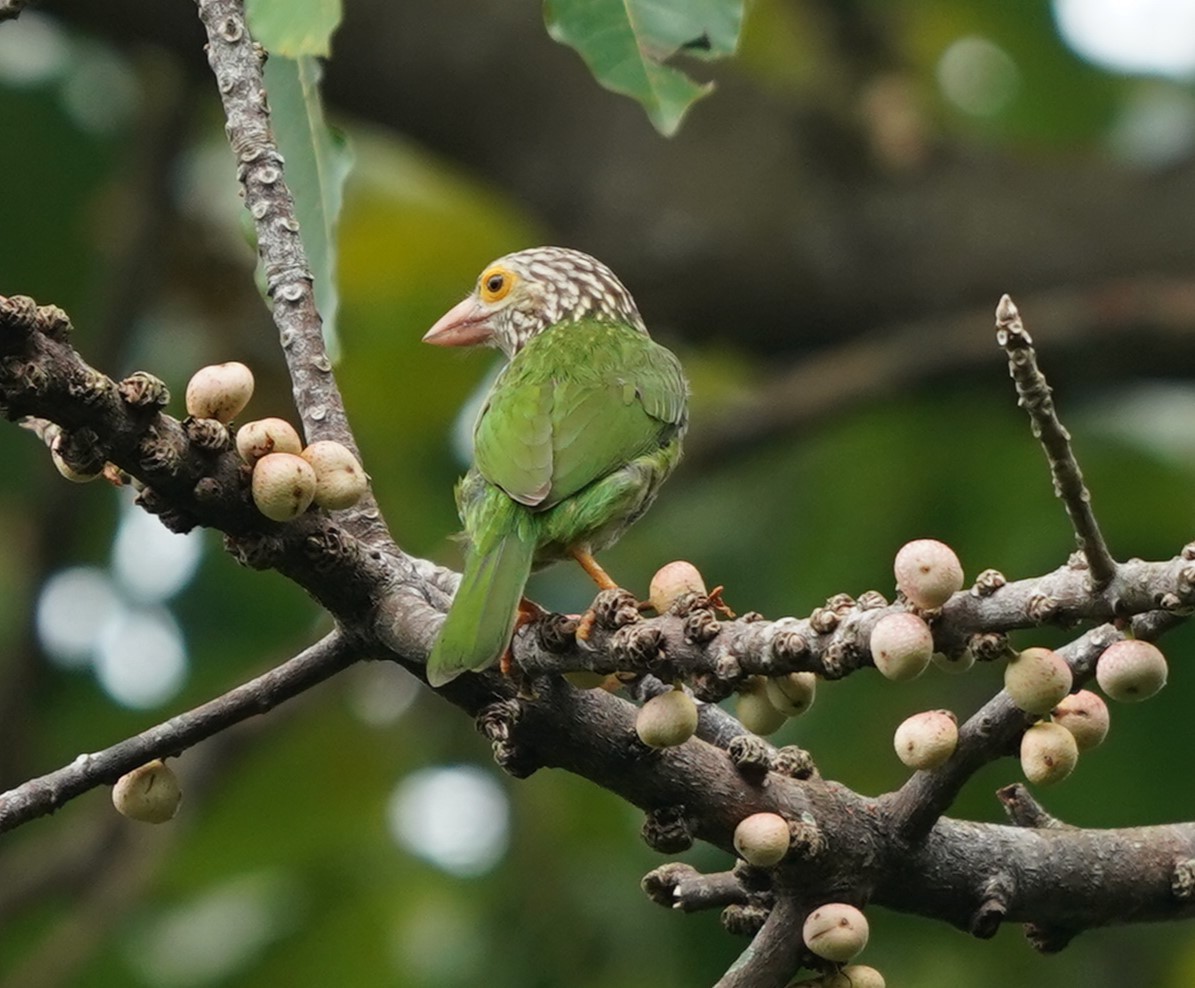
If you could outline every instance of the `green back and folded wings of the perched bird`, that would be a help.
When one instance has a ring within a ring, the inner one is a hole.
[[[551,508],[668,442],[685,399],[676,357],[637,331],[545,332],[496,382],[474,434],[477,468],[515,501]]]

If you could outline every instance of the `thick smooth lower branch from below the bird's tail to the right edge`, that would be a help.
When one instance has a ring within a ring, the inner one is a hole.
[[[1195,823],[1036,830],[942,818],[909,843],[883,798],[776,772],[743,778],[727,753],[697,740],[648,751],[635,742],[633,705],[603,691],[560,683],[508,714],[503,750],[525,768],[564,768],[645,810],[680,808],[694,839],[728,853],[749,814],[803,821],[817,837],[795,843],[776,870],[778,898],[799,888],[822,901],[870,900],[975,935],[1005,921],[1081,929],[1195,915],[1185,880]]]

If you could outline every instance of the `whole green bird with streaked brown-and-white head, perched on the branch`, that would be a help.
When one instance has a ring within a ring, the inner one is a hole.
[[[423,340],[508,358],[456,485],[465,572],[427,669],[443,686],[507,650],[532,570],[572,557],[615,585],[593,556],[648,510],[680,460],[688,387],[609,268],[566,247],[498,258]]]

